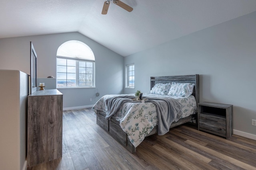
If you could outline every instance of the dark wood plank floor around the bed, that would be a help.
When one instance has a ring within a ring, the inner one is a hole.
[[[96,124],[90,109],[63,112],[62,158],[28,170],[256,170],[256,141],[230,140],[192,125],[147,137],[131,154]]]

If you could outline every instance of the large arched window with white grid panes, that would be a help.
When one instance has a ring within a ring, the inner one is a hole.
[[[57,51],[57,87],[95,87],[95,58],[81,41],[67,41]]]

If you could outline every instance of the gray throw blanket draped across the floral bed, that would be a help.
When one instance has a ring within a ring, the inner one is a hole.
[[[106,113],[106,119],[110,119],[114,115],[122,104],[132,101],[134,96],[116,96],[108,98],[106,100],[106,107],[108,113]],[[178,121],[182,116],[182,105],[178,100],[173,98],[147,98],[145,102],[151,102],[156,106],[156,114],[158,117],[158,135],[164,135],[170,129],[170,125],[173,121]]]

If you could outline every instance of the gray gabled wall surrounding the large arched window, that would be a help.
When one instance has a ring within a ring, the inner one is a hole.
[[[0,69],[21,70],[30,74],[32,41],[38,56],[38,78],[56,77],[57,49],[70,40],[82,41],[94,52],[96,88],[58,89],[63,93],[63,107],[90,106],[105,94],[121,94],[124,58],[77,32],[0,39]],[[99,97],[96,97],[97,90]]]

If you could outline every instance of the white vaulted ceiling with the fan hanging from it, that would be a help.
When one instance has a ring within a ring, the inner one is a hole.
[[[256,0],[0,0],[0,38],[78,31],[128,56],[256,11]]]

